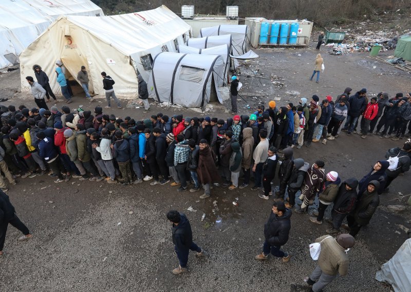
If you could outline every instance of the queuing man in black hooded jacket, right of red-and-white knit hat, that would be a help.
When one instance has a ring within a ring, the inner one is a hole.
[[[332,207],[332,228],[325,231],[328,234],[338,233],[345,216],[354,209],[357,200],[357,186],[358,180],[353,177],[341,184]]]

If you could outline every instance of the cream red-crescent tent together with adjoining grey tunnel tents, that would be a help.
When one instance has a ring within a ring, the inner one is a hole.
[[[221,25],[202,29],[202,37],[192,36],[191,26],[165,6],[112,16],[60,16],[20,54],[22,89],[30,89],[25,77],[39,64],[58,92],[54,70],[61,60],[70,80],[84,65],[95,94],[104,96],[105,71],[120,98],[138,96],[141,74],[158,102],[186,107],[222,103],[228,98],[229,69],[241,58],[258,57],[250,52],[241,57],[247,53],[247,26]]]

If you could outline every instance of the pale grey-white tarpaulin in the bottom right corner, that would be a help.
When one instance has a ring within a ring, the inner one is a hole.
[[[411,289],[411,239],[407,239],[394,257],[381,266],[376,280],[391,285],[396,292]]]

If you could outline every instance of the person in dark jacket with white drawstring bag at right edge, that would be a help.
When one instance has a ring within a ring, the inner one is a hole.
[[[389,191],[389,185],[393,182],[400,173],[404,173],[409,170],[411,164],[411,144],[405,143],[400,148],[391,148],[385,154],[385,158],[390,162],[389,167],[386,169],[387,181],[385,183],[384,193]]]

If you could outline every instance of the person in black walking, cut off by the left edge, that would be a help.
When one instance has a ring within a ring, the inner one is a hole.
[[[9,223],[23,232],[24,235],[18,238],[18,241],[25,241],[33,237],[33,234],[30,233],[26,225],[24,225],[15,214],[15,209],[10,203],[9,196],[0,190],[0,256],[3,255],[3,247]]]

